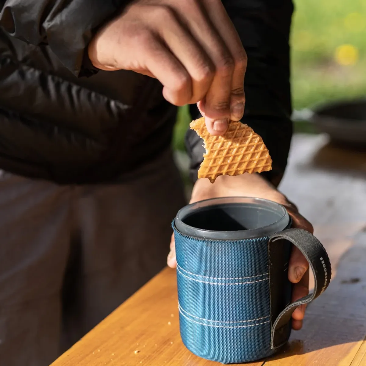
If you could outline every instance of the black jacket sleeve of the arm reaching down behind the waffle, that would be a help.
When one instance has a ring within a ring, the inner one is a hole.
[[[263,138],[273,160],[272,171],[262,173],[275,186],[280,183],[292,136],[289,34],[291,0],[223,0],[248,55],[244,81],[246,94],[242,121]],[[192,118],[199,115],[190,107]],[[202,139],[186,134],[191,158],[190,176],[197,179],[203,158]]]

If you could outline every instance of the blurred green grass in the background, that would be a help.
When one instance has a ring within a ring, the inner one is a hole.
[[[336,60],[336,49],[344,44],[358,51],[353,65],[342,66]],[[291,46],[294,109],[366,96],[365,0],[295,0]],[[188,108],[180,108],[173,136],[175,149],[184,150],[189,123]]]

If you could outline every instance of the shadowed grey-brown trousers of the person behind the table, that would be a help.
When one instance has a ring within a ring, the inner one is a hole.
[[[1,173],[0,365],[49,365],[161,270],[184,204],[170,152],[108,185]]]

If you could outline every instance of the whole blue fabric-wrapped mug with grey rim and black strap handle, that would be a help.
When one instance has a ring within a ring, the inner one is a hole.
[[[188,350],[243,363],[287,343],[293,311],[319,296],[331,276],[322,244],[291,223],[284,206],[261,198],[214,198],[179,210],[172,227],[180,335]],[[287,275],[292,245],[315,277],[314,291],[293,303]]]

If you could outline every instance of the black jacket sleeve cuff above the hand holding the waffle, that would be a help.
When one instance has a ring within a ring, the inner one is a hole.
[[[0,0],[0,26],[10,36],[48,45],[74,75],[94,73],[85,57],[93,32],[127,0]]]

